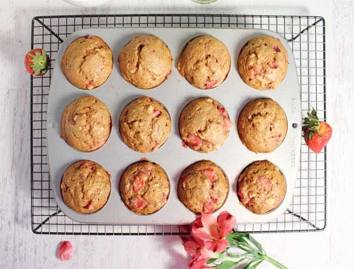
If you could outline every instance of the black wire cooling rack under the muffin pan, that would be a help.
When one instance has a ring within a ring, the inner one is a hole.
[[[315,107],[326,120],[325,21],[315,16],[258,15],[73,15],[42,16],[32,20],[31,48],[43,48],[51,68],[31,78],[31,215],[36,234],[176,235],[178,225],[83,224],[58,208],[50,184],[47,149],[47,106],[53,66],[63,40],[89,27],[223,27],[262,28],[283,35],[292,48],[301,91],[302,117]],[[236,57],[235,55],[233,57]],[[316,232],[326,227],[326,149],[313,153],[302,141],[299,170],[291,204],[268,223],[237,224],[248,233]]]

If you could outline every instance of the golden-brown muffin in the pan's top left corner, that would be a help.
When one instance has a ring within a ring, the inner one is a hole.
[[[111,74],[113,54],[101,37],[82,36],[66,48],[60,66],[72,85],[92,90],[104,84]]]

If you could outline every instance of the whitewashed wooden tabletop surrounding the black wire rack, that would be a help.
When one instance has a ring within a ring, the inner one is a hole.
[[[327,111],[334,129],[328,146],[328,225],[324,232],[255,235],[289,268],[352,268],[353,2],[219,0],[111,0],[93,9],[60,0],[2,0],[0,5],[0,268],[185,268],[181,241],[168,237],[39,236],[30,228],[29,75],[33,16],[90,13],[224,13],[321,15],[326,19]],[[72,242],[70,261],[56,258],[57,245]],[[272,268],[263,264],[261,268]]]

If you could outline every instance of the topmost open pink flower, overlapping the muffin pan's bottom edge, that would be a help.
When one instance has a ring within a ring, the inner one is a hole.
[[[227,211],[221,212],[217,219],[211,214],[202,214],[192,226],[191,235],[202,240],[206,248],[214,252],[223,252],[229,245],[225,239],[232,232],[236,218]]]

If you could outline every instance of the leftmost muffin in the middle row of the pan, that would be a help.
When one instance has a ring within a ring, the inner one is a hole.
[[[81,151],[94,151],[106,143],[112,129],[107,106],[94,96],[72,101],[64,110],[60,137]]]

